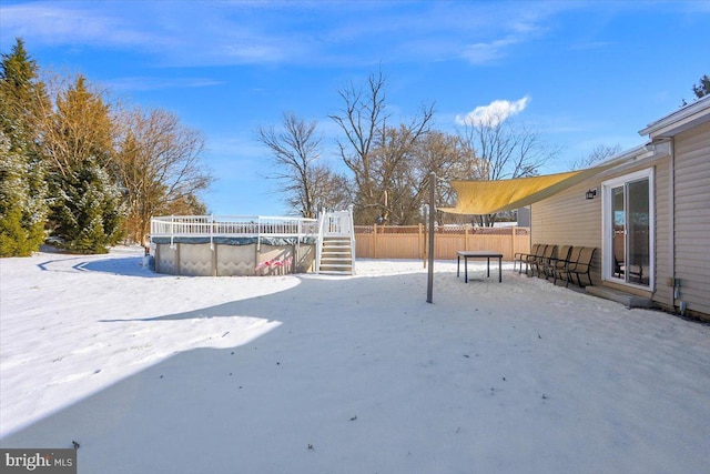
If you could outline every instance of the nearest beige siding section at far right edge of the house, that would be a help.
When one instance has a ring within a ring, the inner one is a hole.
[[[710,123],[676,137],[674,178],[679,301],[710,314]]]

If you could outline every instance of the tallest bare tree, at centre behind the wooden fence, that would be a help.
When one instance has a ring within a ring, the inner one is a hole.
[[[433,107],[424,105],[408,123],[389,125],[385,85],[382,71],[369,75],[366,89],[348,84],[339,91],[339,113],[329,115],[345,134],[338,141],[338,151],[353,172],[355,220],[363,224],[389,220],[392,191],[414,145],[429,131],[434,115]]]

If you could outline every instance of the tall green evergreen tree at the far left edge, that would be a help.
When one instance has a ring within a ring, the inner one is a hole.
[[[0,256],[26,256],[44,240],[49,212],[38,119],[47,103],[38,67],[18,39],[0,64]]]

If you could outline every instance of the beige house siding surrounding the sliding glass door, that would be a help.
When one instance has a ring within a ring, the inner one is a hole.
[[[530,241],[595,246],[599,251],[592,262],[594,284],[648,295],[660,306],[684,306],[691,315],[710,319],[710,98],[649,124],[640,133],[648,137],[648,145],[617,157],[618,168],[532,204]],[[606,256],[601,254],[601,183],[648,169],[653,177],[655,274],[652,286],[645,291],[601,281]],[[591,188],[599,192],[597,199],[587,201],[585,191]],[[679,283],[678,297],[673,282]]]

